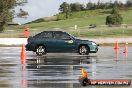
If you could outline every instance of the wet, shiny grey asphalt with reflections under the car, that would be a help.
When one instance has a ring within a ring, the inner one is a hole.
[[[82,67],[91,79],[132,79],[132,47],[129,47],[127,58],[123,48],[116,58],[113,47],[100,47],[98,53],[89,56],[52,53],[37,57],[27,52],[25,65],[21,65],[20,50],[20,47],[0,47],[0,88],[83,88],[78,82]]]

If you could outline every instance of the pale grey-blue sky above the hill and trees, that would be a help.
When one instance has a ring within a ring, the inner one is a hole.
[[[91,2],[97,3],[98,0],[91,0]],[[100,0],[101,2],[109,2],[110,0]],[[113,2],[115,0],[112,0]],[[126,0],[118,0],[121,2],[126,2]],[[63,2],[74,3],[79,2],[86,4],[89,0],[28,0],[24,6],[17,6],[15,8],[16,12],[19,8],[28,12],[27,18],[14,18],[13,21],[19,24],[24,24],[42,17],[49,17],[57,14],[59,12],[59,6]]]

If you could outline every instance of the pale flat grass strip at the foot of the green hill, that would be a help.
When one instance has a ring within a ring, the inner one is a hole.
[[[30,35],[35,35],[41,31],[48,31],[48,30],[56,30],[56,31],[66,31],[71,35],[77,37],[130,37],[132,36],[132,26],[121,26],[121,27],[106,27],[106,26],[98,26],[97,28],[89,29],[87,26],[78,27],[78,29],[74,29],[74,27],[68,28],[30,28]],[[0,37],[24,37],[23,30],[12,30],[12,31],[5,31],[4,33],[0,33]]]

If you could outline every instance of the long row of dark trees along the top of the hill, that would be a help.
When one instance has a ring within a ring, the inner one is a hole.
[[[121,1],[115,1],[112,2],[110,0],[109,2],[101,2],[100,0],[97,3],[93,3],[89,1],[86,5],[81,4],[79,2],[76,3],[67,3],[63,2],[60,5],[59,10],[62,13],[68,13],[68,12],[76,12],[76,11],[84,11],[84,10],[94,10],[94,9],[111,9],[114,5],[117,5],[119,8],[122,9],[129,9],[132,7],[132,0],[127,0],[126,3],[122,3]]]

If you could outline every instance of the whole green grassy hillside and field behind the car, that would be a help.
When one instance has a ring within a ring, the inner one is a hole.
[[[72,13],[70,19],[49,21],[40,23],[26,24],[30,28],[30,35],[34,35],[44,30],[61,30],[66,31],[74,36],[79,37],[128,37],[132,34],[132,10],[120,11],[123,17],[121,27],[108,27],[105,25],[105,18],[109,14],[109,10],[92,10]],[[63,16],[64,14],[60,14]],[[89,29],[90,24],[96,24],[96,28]],[[78,29],[74,29],[74,25],[78,25]],[[0,33],[0,37],[23,37],[23,27],[10,26],[6,27],[4,33]]]

